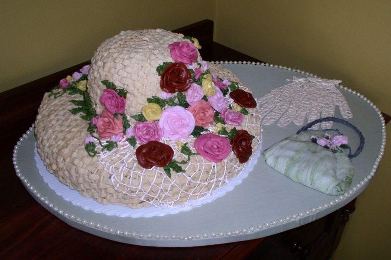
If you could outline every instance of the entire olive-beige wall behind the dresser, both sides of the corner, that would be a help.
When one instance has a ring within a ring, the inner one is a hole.
[[[90,59],[99,43],[120,30],[174,29],[211,19],[217,42],[269,63],[343,80],[391,114],[388,0],[7,0],[0,10],[0,92]],[[388,141],[334,259],[391,255],[390,149]]]

